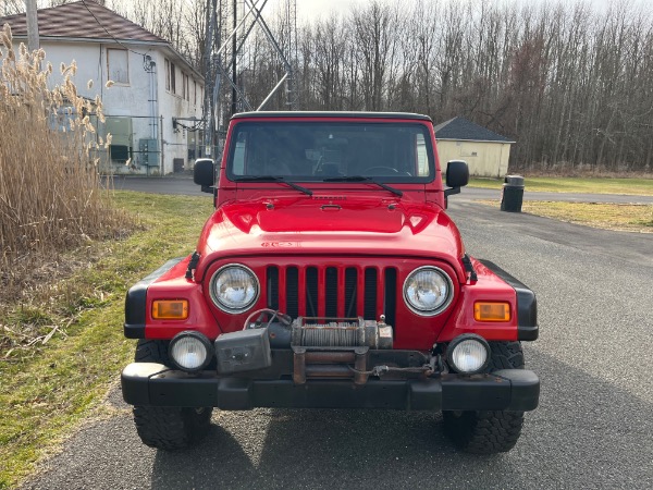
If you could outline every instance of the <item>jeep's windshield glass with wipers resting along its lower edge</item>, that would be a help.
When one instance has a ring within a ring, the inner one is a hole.
[[[426,183],[435,174],[428,127],[419,123],[245,121],[230,148],[226,172],[236,181]]]

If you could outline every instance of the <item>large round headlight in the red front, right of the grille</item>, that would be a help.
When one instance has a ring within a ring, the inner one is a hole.
[[[438,315],[453,298],[454,286],[449,277],[436,267],[415,269],[404,282],[404,298],[418,315]]]

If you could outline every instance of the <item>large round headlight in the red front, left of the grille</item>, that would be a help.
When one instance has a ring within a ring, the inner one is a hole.
[[[259,282],[245,266],[224,266],[211,279],[210,293],[218,308],[242,313],[250,308],[259,295]]]

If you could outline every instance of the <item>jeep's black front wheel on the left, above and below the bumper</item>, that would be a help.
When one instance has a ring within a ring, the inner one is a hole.
[[[137,363],[169,366],[167,341],[139,340]],[[199,441],[208,433],[213,407],[135,406],[134,422],[144,444],[174,451]]]

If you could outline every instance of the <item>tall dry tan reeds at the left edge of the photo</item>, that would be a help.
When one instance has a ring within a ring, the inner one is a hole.
[[[72,63],[48,87],[52,66],[42,50],[12,48],[9,25],[0,44],[0,306],[20,294],[30,272],[58,255],[124,229],[97,171],[98,145],[89,114],[102,120],[99,98],[79,97]],[[1,309],[1,308],[0,308]]]

